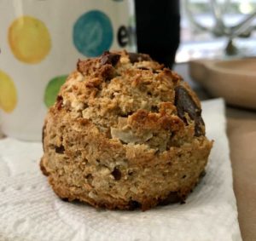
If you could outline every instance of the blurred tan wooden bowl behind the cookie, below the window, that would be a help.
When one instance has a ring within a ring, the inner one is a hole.
[[[192,60],[189,72],[213,97],[256,110],[256,58]]]

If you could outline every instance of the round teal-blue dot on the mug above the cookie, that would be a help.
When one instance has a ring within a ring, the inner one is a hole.
[[[113,26],[107,14],[89,11],[79,17],[73,26],[73,43],[88,57],[102,55],[113,43]]]

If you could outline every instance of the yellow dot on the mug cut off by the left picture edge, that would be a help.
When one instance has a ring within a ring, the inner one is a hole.
[[[0,71],[0,108],[4,112],[13,112],[17,105],[15,83],[5,72]]]

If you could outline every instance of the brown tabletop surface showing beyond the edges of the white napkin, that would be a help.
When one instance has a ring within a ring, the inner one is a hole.
[[[210,99],[206,91],[191,82],[186,64],[175,70],[189,82],[201,100]],[[227,134],[230,140],[230,159],[238,221],[244,241],[256,240],[256,111],[226,106]],[[0,131],[0,139],[3,135]]]

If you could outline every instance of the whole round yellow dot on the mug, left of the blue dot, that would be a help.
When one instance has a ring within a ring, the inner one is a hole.
[[[9,46],[18,60],[36,64],[49,54],[48,29],[41,20],[22,16],[9,27]]]

